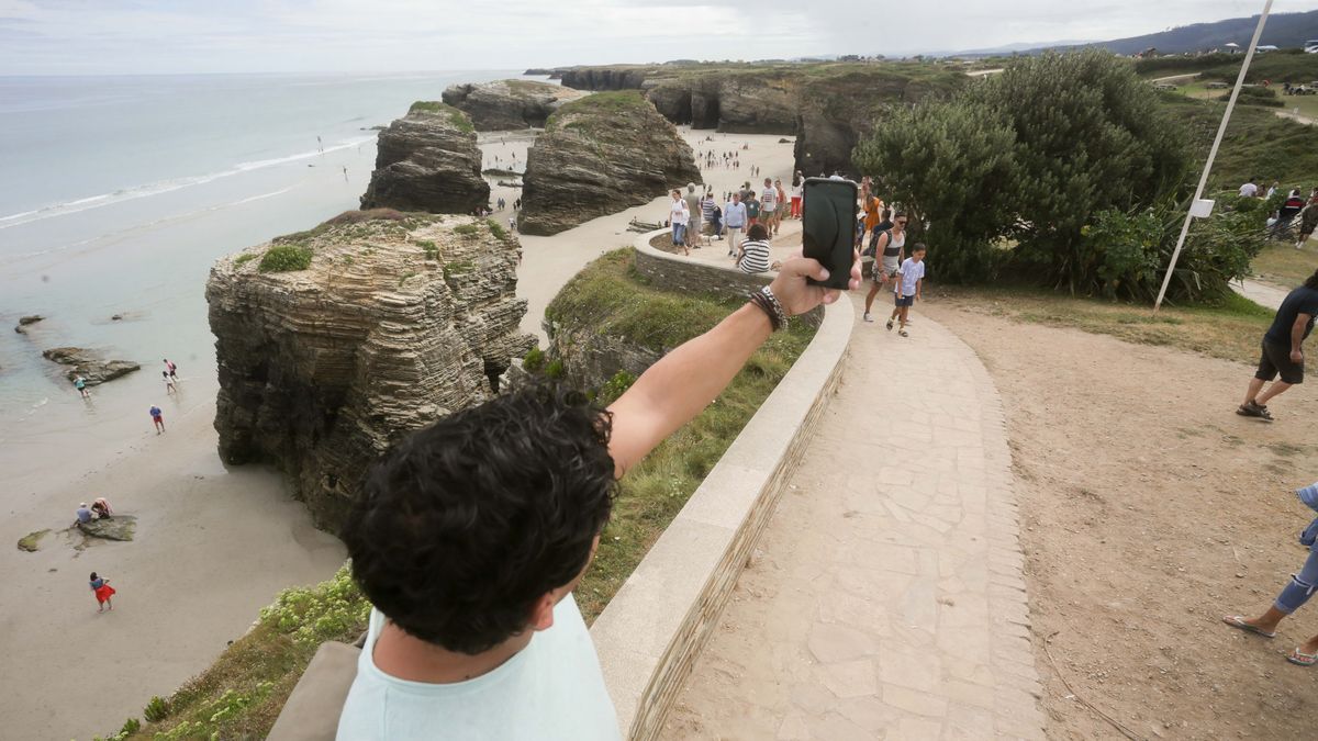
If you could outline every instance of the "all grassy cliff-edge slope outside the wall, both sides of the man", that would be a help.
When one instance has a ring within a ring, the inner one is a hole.
[[[729,312],[730,303],[645,285],[631,270],[630,253],[613,252],[589,265],[563,289],[554,311],[589,318],[605,331],[656,347],[693,338]],[[796,323],[771,338],[713,405],[622,480],[594,564],[577,588],[587,621],[594,620],[641,563],[812,335]],[[316,646],[353,641],[365,629],[366,609],[347,570],[315,588],[286,591],[250,633],[170,697],[162,723],[129,737],[264,737]]]

